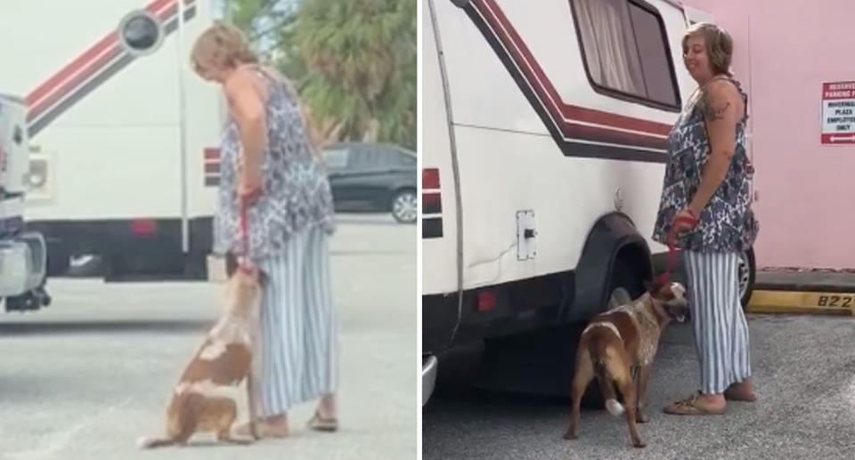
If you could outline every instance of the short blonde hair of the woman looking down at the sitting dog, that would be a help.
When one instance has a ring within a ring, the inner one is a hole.
[[[250,49],[246,36],[231,24],[216,21],[202,32],[190,52],[193,69],[213,65],[217,69],[229,69],[240,64],[257,64],[258,56]]]

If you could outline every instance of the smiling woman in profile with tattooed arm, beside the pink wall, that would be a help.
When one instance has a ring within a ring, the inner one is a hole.
[[[668,414],[721,415],[726,399],[753,401],[738,254],[753,245],[753,166],[745,153],[747,95],[729,72],[733,41],[708,23],[688,28],[683,60],[698,88],[669,135],[653,238],[683,250],[701,390]]]

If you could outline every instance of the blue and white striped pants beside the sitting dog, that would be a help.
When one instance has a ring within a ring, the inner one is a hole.
[[[338,323],[326,233],[289,238],[285,254],[258,262],[267,275],[261,304],[257,416],[279,416],[338,386]]]

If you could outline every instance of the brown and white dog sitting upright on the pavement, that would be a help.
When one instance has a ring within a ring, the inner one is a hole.
[[[255,424],[251,422],[256,419],[251,390],[263,283],[263,274],[256,269],[239,267],[234,271],[225,286],[223,316],[208,332],[175,386],[167,408],[167,435],[142,438],[137,441],[140,448],[183,445],[196,432],[216,432],[217,440],[238,444],[258,439]],[[245,380],[253,439],[232,436],[238,412],[235,393]]]

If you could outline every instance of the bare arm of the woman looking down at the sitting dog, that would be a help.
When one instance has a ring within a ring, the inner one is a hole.
[[[241,160],[238,193],[248,195],[261,187],[261,163],[267,137],[264,95],[256,76],[238,70],[225,84],[225,94],[240,134]]]

